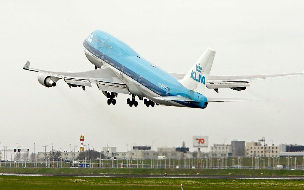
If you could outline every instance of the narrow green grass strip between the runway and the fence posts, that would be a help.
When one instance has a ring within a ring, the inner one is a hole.
[[[0,173],[40,174],[197,174],[200,175],[304,175],[304,170],[254,169],[150,169],[150,168],[0,168]]]

